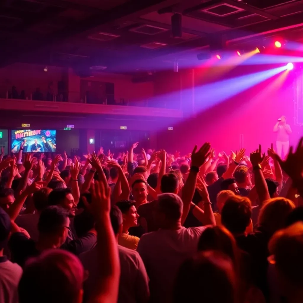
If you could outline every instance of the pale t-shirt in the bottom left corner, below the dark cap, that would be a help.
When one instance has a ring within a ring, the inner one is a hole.
[[[6,257],[0,258],[0,302],[18,303],[18,284],[22,276],[22,268],[8,261]]]

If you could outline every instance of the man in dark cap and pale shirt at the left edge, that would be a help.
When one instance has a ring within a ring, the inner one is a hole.
[[[18,302],[18,284],[22,276],[22,268],[12,263],[3,255],[11,232],[11,220],[8,214],[0,207],[0,302]]]

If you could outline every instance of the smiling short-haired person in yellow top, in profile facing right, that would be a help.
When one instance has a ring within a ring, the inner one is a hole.
[[[119,201],[116,206],[122,212],[122,232],[118,236],[118,244],[129,249],[137,250],[139,238],[131,236],[128,229],[138,225],[139,215],[135,208],[135,202],[131,200]]]

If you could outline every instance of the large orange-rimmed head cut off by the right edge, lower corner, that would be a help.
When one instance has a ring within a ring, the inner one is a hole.
[[[278,271],[283,295],[289,302],[302,301],[303,223],[297,222],[277,231],[269,241],[268,251],[271,263]]]

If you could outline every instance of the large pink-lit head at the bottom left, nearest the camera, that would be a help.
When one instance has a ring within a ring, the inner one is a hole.
[[[84,269],[72,253],[47,250],[30,259],[18,286],[19,303],[82,302]]]

